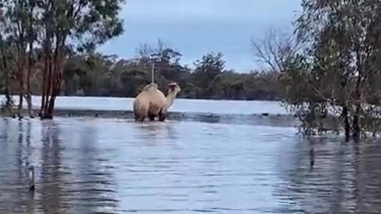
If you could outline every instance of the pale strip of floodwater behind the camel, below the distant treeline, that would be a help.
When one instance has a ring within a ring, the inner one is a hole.
[[[0,100],[4,96],[0,96]],[[133,98],[127,97],[65,97],[56,99],[56,109],[75,110],[132,110]],[[18,104],[18,96],[14,96],[15,105]],[[24,107],[27,106],[23,102]],[[33,96],[34,108],[41,105],[41,96]],[[189,113],[226,113],[226,114],[287,114],[281,107],[281,102],[276,101],[227,101],[227,100],[196,100],[175,99],[171,106],[173,112]]]

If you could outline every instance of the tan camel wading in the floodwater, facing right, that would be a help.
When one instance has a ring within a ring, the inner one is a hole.
[[[133,102],[135,121],[143,122],[145,118],[154,121],[156,117],[159,121],[164,121],[168,109],[180,91],[181,88],[177,83],[170,83],[168,95],[165,97],[157,88],[157,84],[150,83],[144,86]]]

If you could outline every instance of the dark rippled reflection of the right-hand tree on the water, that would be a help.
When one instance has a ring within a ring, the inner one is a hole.
[[[379,213],[379,142],[309,139],[293,150],[283,155],[288,164],[279,167],[284,181],[274,191],[282,205],[279,212]]]

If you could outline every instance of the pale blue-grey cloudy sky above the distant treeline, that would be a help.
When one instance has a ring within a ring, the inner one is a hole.
[[[300,10],[300,0],[126,0],[121,16],[125,32],[98,51],[136,56],[141,44],[164,40],[192,67],[204,54],[221,52],[227,69],[260,68],[251,38],[269,27],[287,29]]]

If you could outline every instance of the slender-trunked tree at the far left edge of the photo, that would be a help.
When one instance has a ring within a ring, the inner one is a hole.
[[[35,43],[35,0],[8,0],[2,2],[4,40],[8,43],[10,55],[8,61],[12,64],[9,71],[14,73],[19,92],[18,116],[21,117],[23,98],[28,103],[29,116],[32,115],[32,96],[30,76],[34,59],[32,59]]]

